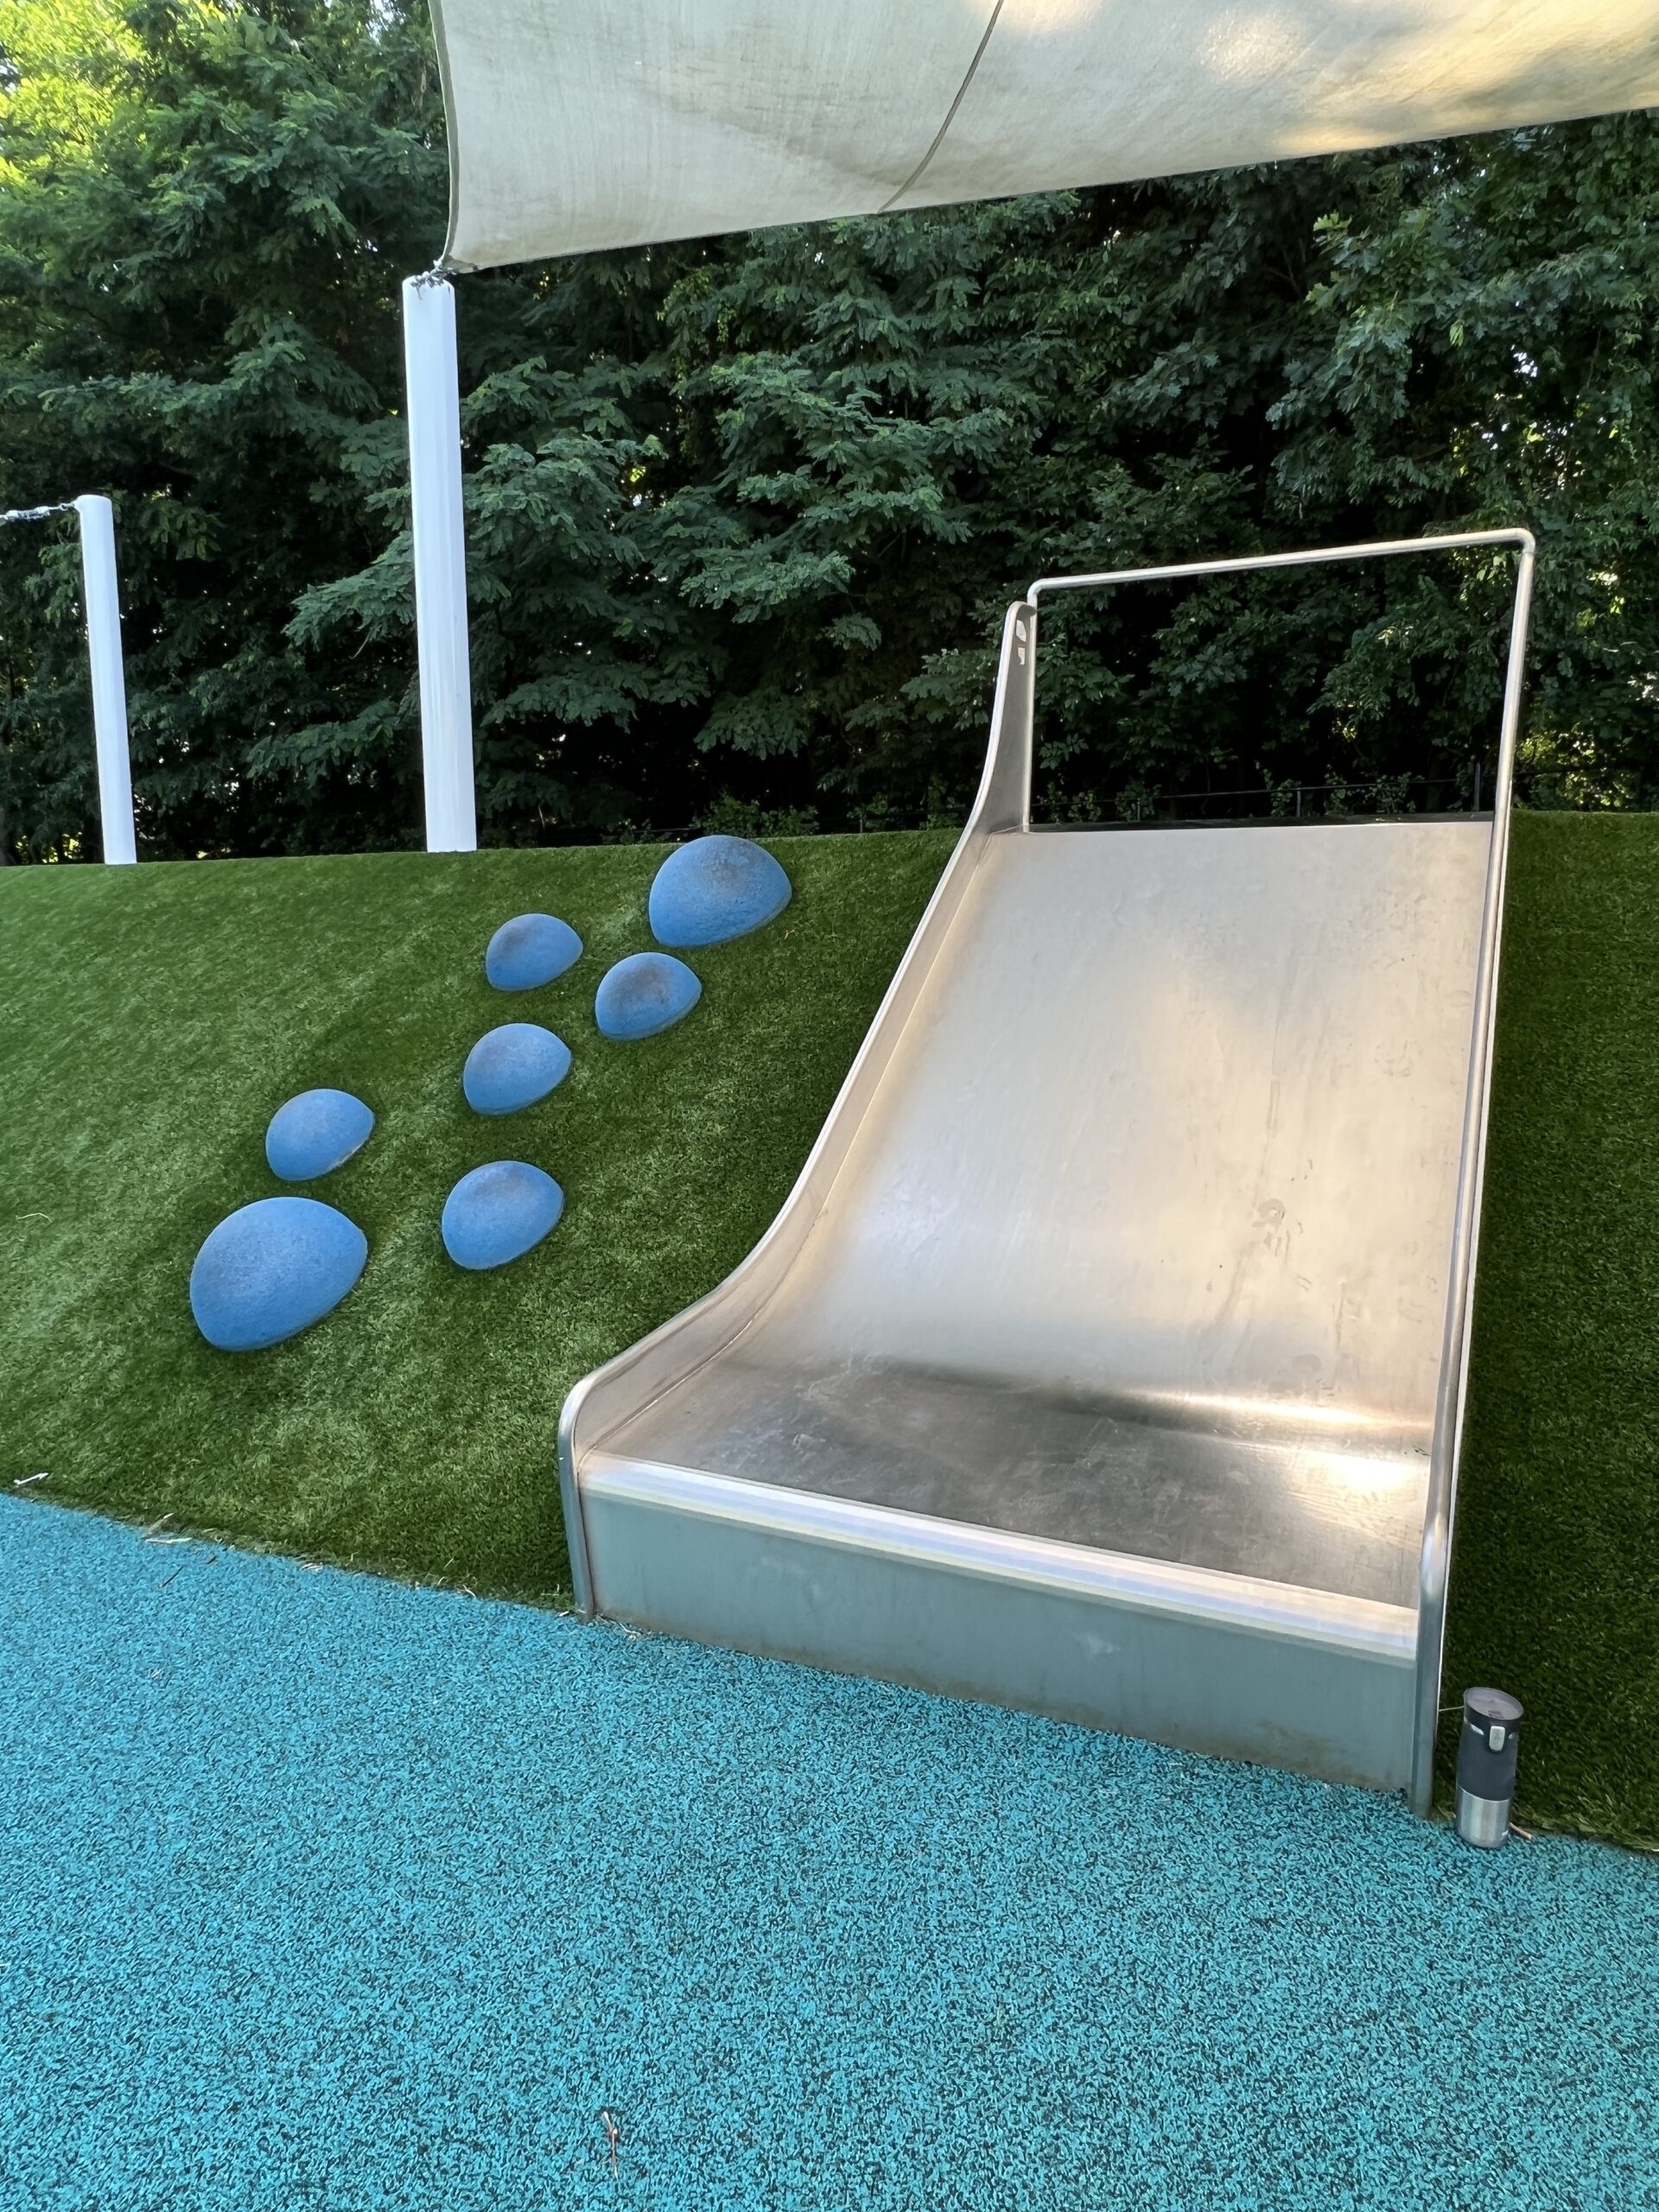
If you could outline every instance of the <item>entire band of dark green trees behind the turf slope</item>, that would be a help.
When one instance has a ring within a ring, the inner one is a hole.
[[[0,507],[115,498],[142,849],[418,843],[425,15],[0,35]],[[956,818],[1031,575],[1506,522],[1522,792],[1648,805],[1657,201],[1632,115],[462,279],[484,841]],[[1071,604],[1042,801],[1469,803],[1506,595],[1469,555]],[[7,858],[97,849],[66,522],[0,531],[0,807]]]

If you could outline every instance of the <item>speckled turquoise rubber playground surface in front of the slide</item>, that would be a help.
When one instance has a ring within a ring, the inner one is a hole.
[[[1659,2205],[1655,1860],[11,1500],[0,1717],[4,2212]]]

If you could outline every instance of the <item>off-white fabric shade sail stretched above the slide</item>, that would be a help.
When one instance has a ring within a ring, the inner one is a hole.
[[[445,259],[1659,104],[1659,0],[434,0]]]

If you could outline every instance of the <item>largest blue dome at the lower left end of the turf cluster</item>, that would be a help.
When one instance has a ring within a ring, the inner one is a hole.
[[[263,1352],[334,1312],[369,1239],[321,1199],[259,1199],[210,1230],[190,1270],[190,1312],[219,1352]]]

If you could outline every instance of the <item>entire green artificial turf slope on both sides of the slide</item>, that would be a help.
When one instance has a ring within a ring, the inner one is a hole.
[[[787,914],[692,960],[697,1013],[608,1046],[606,964],[648,942],[659,847],[0,874],[0,1478],[33,1495],[557,1601],[571,1383],[719,1281],[772,1219],[949,852],[783,841]],[[586,938],[504,998],[482,951],[544,907]],[[1517,816],[1447,1699],[1526,1701],[1522,1812],[1659,1838],[1659,818]],[[493,1022],[575,1048],[480,1121]],[[310,1084],[380,1126],[321,1186],[369,1234],[345,1305],[210,1352],[186,1283],[281,1186]],[[451,1267],[449,1186],[529,1157],[568,1192],[500,1274]],[[1455,1723],[1447,1721],[1447,1747]]]

